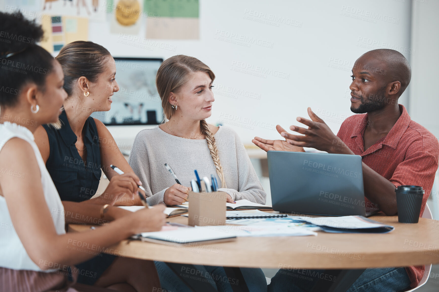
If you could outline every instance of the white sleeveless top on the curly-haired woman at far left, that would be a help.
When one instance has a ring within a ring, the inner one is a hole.
[[[7,141],[14,137],[21,138],[32,146],[38,166],[40,167],[44,198],[46,199],[50,215],[52,216],[56,232],[58,234],[65,234],[64,207],[49,172],[47,172],[40,150],[34,142],[32,132],[15,123],[5,122],[0,124],[0,151],[4,147],[6,148]],[[21,175],[19,173],[14,174],[14,170],[3,169],[0,167],[0,176],[9,175],[10,172],[12,175]],[[14,270],[42,271],[30,259],[20,241],[20,238],[18,238],[17,232],[15,232],[14,226],[11,222],[11,216],[7,209],[6,200],[3,196],[0,196],[0,267]]]

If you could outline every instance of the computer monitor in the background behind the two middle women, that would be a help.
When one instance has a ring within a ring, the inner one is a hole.
[[[162,101],[155,86],[159,58],[114,57],[119,91],[112,97],[108,112],[91,116],[112,125],[157,125],[163,120]]]

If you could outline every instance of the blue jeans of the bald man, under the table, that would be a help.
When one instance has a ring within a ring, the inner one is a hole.
[[[319,278],[335,281],[332,276],[325,275],[324,270],[281,269],[271,279],[268,291],[309,292]],[[409,285],[410,279],[403,267],[374,268],[366,269],[346,292],[398,292]]]

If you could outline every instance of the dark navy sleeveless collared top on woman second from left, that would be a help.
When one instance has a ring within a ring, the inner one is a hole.
[[[68,123],[65,111],[59,117],[60,130],[43,125],[49,137],[50,155],[46,167],[58,190],[61,201],[81,202],[96,193],[101,179],[101,152],[96,123],[89,117],[84,124],[86,163],[76,149],[76,134]]]

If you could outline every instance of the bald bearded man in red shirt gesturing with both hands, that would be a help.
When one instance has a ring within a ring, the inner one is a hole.
[[[255,137],[253,143],[265,151],[304,151],[303,147],[310,147],[360,155],[366,203],[378,204],[386,215],[396,215],[395,188],[422,186],[422,215],[438,168],[439,143],[398,104],[410,78],[410,65],[398,51],[369,51],[356,60],[352,69],[351,111],[357,115],[347,118],[337,135],[308,108],[311,120],[297,118],[308,128],[290,127],[299,135],[277,125],[285,140]],[[425,266],[366,269],[347,291],[404,291],[416,287],[424,271]],[[271,283],[269,291],[309,291],[315,281],[280,271]]]

